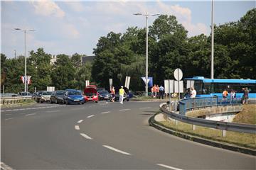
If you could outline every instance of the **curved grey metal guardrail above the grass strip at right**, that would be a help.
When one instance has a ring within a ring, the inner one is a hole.
[[[203,127],[215,128],[219,130],[228,130],[228,131],[256,134],[256,125],[247,125],[242,123],[228,123],[228,122],[221,122],[221,121],[214,121],[214,120],[205,120],[202,118],[192,118],[186,115],[181,115],[181,114],[168,111],[166,108],[167,108],[166,103],[162,103],[160,105],[160,111],[162,113],[164,113],[169,118],[173,118],[183,123],[189,123],[191,125],[200,125]]]

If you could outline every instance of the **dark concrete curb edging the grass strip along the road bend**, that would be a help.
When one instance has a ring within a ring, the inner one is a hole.
[[[198,142],[198,143],[201,143],[201,144],[204,144],[204,145],[210,145],[212,147],[219,147],[219,148],[222,148],[222,149],[229,149],[229,150],[232,150],[232,151],[235,151],[235,152],[241,152],[243,154],[251,154],[251,155],[256,156],[256,150],[253,150],[253,149],[248,149],[248,148],[245,148],[245,147],[238,147],[238,146],[235,146],[235,145],[229,145],[228,143],[220,143],[220,142],[216,142],[216,141],[213,141],[213,140],[207,140],[207,139],[204,139],[204,138],[201,138],[201,137],[196,137],[196,136],[193,136],[193,135],[188,135],[188,134],[183,133],[183,132],[178,132],[178,131],[175,131],[175,130],[171,130],[169,128],[165,128],[164,126],[158,125],[156,123],[156,120],[154,119],[154,117],[155,117],[155,115],[153,115],[151,118],[149,118],[149,125],[158,129],[158,130],[161,130],[163,132],[167,132],[171,135],[175,135],[177,137],[182,137],[183,139],[191,140],[193,142]]]

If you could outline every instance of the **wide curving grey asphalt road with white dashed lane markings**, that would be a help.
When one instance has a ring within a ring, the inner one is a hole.
[[[158,102],[1,109],[11,169],[256,169],[256,157],[183,140],[147,121]]]

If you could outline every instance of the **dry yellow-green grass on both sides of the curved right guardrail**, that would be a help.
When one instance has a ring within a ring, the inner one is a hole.
[[[243,105],[243,111],[235,116],[233,122],[256,124],[255,108],[256,104]],[[191,124],[178,122],[178,125],[175,125],[174,120],[158,122],[158,124],[171,130],[187,133],[188,135],[195,135],[209,140],[256,149],[256,134],[227,131],[226,136],[222,137],[222,130],[204,128],[201,126],[196,126],[196,130],[192,130]]]

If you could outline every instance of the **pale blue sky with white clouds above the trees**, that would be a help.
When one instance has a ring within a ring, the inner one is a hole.
[[[214,1],[214,23],[238,21],[256,1]],[[133,13],[176,16],[188,37],[210,34],[211,1],[1,1],[1,53],[12,58],[39,47],[51,55],[93,55],[101,36],[145,28]],[[149,17],[149,26],[157,16]]]

